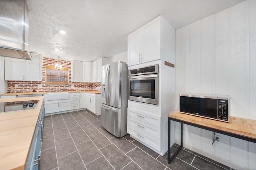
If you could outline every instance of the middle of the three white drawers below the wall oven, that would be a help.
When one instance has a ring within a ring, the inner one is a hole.
[[[131,129],[138,131],[140,134],[148,135],[148,137],[154,137],[160,139],[160,128],[149,125],[132,117],[128,117],[127,124]]]

